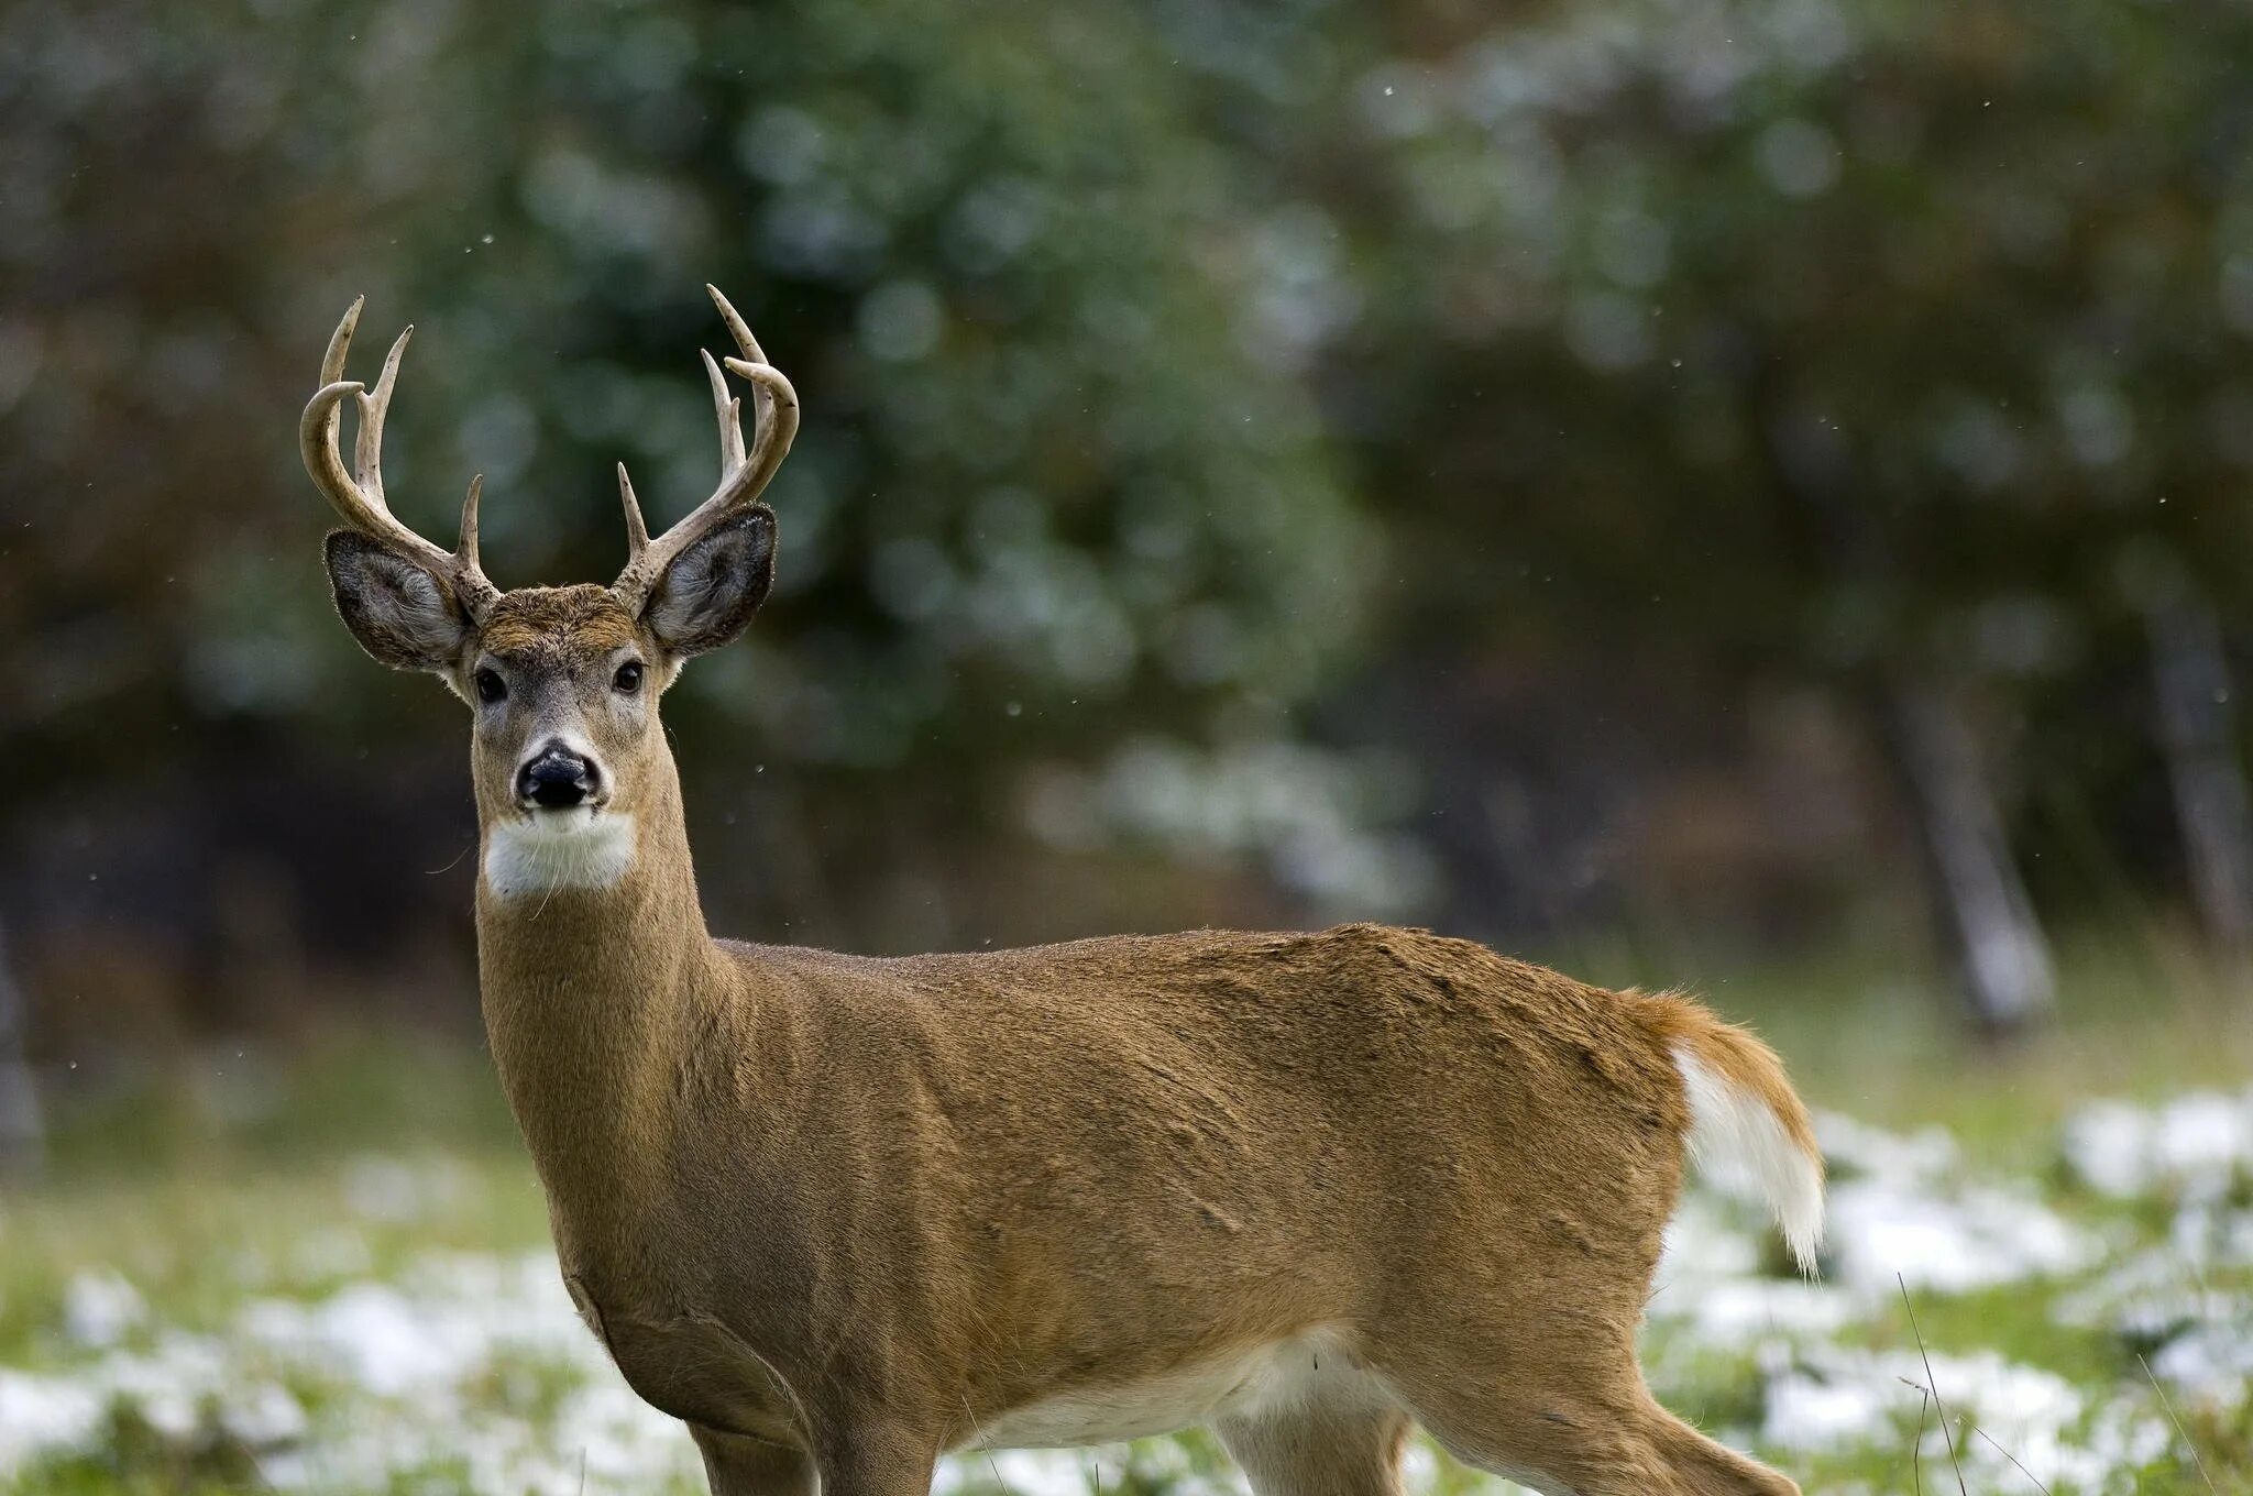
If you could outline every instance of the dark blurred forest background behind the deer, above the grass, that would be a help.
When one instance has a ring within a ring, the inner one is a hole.
[[[2253,9],[23,0],[0,1095],[475,1032],[460,707],[297,410],[367,293],[408,523],[482,471],[502,586],[608,579],[705,282],[807,408],[665,707],[721,930],[2239,989]]]

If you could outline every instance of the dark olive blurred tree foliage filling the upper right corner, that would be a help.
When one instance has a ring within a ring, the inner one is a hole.
[[[2052,883],[2149,879],[2140,608],[2246,624],[2248,52],[2226,5],[1764,0],[1377,63],[1350,367],[1413,638],[1935,676]]]

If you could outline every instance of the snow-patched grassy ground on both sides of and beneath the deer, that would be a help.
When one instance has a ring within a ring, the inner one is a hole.
[[[2012,1054],[1836,973],[1708,991],[1816,1102],[1832,1248],[1802,1282],[1753,1212],[1694,1194],[1645,1334],[1669,1406],[1809,1491],[2253,1489],[2246,1003],[2068,967],[2061,1034]],[[1426,1449],[1410,1476],[1503,1489]],[[460,1043],[124,1079],[68,1108],[47,1183],[0,1194],[0,1489],[268,1487],[703,1489],[570,1314]],[[1239,1482],[1187,1435],[951,1460],[940,1487]]]

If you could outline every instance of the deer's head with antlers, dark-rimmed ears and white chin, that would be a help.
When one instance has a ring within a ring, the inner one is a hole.
[[[750,383],[757,435],[746,451],[743,403],[705,354],[719,415],[719,489],[649,538],[620,464],[626,570],[611,586],[496,588],[478,566],[478,480],[451,552],[392,516],[383,498],[383,415],[412,327],[392,342],[374,390],[345,379],[360,302],[338,322],[320,363],[320,392],[297,435],[306,471],[345,520],[327,543],[336,611],[376,660],[426,669],[469,703],[484,867],[500,894],[518,885],[599,885],[631,865],[635,813],[658,766],[669,764],[658,696],[683,660],[739,635],[773,581],[775,511],[759,491],[798,435],[798,394],[728,297],[712,291],[712,300],[741,351],[728,369]],[[347,399],[360,415],[351,471],[338,451]]]

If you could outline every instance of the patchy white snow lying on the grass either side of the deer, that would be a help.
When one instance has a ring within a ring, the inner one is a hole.
[[[1978,1178],[1938,1129],[1823,1117],[1818,1131],[1834,1174],[1820,1280],[1784,1273],[1764,1223],[1708,1194],[1667,1235],[1647,1363],[1663,1397],[1742,1383],[1742,1426],[1724,1437],[1796,1467],[1915,1446],[1926,1473],[1953,1458],[1978,1489],[2034,1480],[2055,1496],[2134,1489],[2170,1451],[2149,1381],[2086,1388],[1976,1345],[1920,1347],[1902,1334],[1904,1284],[1926,1300],[2039,1293],[2046,1318],[2109,1336],[2129,1368],[2140,1354],[2179,1404],[2246,1404],[2253,1090],[2084,1108],[2064,1133],[2066,1176],[2093,1203],[2077,1217],[2028,1181]],[[446,1165],[363,1160],[347,1199],[397,1221],[444,1210],[462,1187]],[[288,1293],[293,1268],[342,1286]],[[2224,1271],[2237,1286],[2215,1286]],[[365,1241],[338,1226],[246,1293],[216,1325],[185,1327],[126,1277],[81,1273],[36,1365],[0,1365],[0,1480],[133,1428],[239,1449],[277,1489],[415,1476],[511,1496],[701,1487],[694,1446],[624,1388],[547,1253],[426,1255],[379,1277]],[[1428,1489],[1431,1460],[1417,1460],[1415,1489]],[[1086,1496],[1129,1473],[1145,1489],[1241,1491],[1183,1446],[1145,1442],[964,1455],[942,1467],[940,1494]]]

